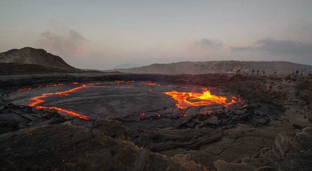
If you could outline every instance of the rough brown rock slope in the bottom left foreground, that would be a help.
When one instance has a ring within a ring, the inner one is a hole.
[[[82,126],[32,127],[0,135],[0,164],[6,170],[205,170],[176,162]],[[7,143],[10,142],[10,143]],[[156,165],[161,167],[156,167]]]

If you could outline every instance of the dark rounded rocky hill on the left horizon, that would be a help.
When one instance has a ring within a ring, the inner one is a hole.
[[[81,72],[43,49],[24,47],[0,53],[1,75]]]

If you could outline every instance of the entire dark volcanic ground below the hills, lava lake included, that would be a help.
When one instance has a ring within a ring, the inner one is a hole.
[[[0,79],[2,169],[311,169],[308,77]]]

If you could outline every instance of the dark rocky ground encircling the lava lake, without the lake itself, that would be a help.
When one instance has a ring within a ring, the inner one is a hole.
[[[312,169],[312,79],[308,77],[128,74],[2,80],[2,170]],[[6,100],[12,90],[37,84],[109,80],[216,87],[234,92],[246,102],[232,112],[212,108],[212,117],[171,118],[175,121],[171,125],[144,130],[144,125],[161,120],[154,116],[134,121],[103,118],[81,126],[76,118],[56,111]]]

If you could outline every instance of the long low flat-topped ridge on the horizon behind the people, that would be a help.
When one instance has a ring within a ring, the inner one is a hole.
[[[275,69],[280,74],[290,74],[292,69],[312,70],[311,65],[296,64],[285,61],[206,61],[206,62],[177,62],[171,64],[151,64],[148,66],[129,69],[112,69],[106,71],[119,71],[138,74],[205,74],[205,73],[230,73],[232,69],[246,69],[251,74],[252,69],[265,70],[267,74]]]

